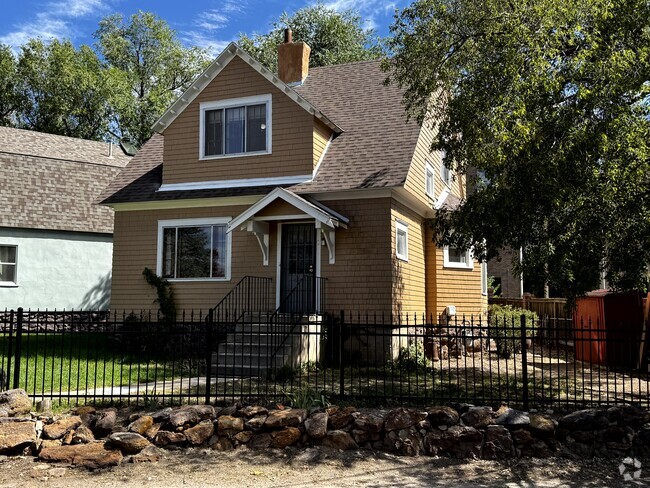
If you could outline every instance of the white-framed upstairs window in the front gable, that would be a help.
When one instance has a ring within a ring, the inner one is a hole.
[[[271,95],[201,104],[201,159],[271,152]]]

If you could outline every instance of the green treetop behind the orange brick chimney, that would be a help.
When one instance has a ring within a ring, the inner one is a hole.
[[[337,12],[319,3],[293,15],[283,12],[271,25],[267,34],[240,34],[238,42],[273,72],[277,71],[277,48],[284,41],[287,27],[294,41],[304,41],[311,48],[311,67],[377,59],[383,54],[374,31],[365,29],[361,17],[352,10]]]

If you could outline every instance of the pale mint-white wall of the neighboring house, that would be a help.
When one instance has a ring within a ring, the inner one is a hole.
[[[0,310],[106,310],[113,237],[0,228],[0,245],[17,245],[17,286],[0,285]]]

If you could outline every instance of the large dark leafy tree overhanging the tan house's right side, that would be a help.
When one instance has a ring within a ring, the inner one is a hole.
[[[521,247],[516,271],[569,298],[601,272],[647,286],[650,3],[417,0],[391,30],[408,115],[445,164],[485,176],[437,213],[436,242]]]

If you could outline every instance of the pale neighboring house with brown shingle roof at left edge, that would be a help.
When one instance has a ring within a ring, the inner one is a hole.
[[[104,142],[0,127],[0,310],[108,307],[113,210],[130,157]]]

